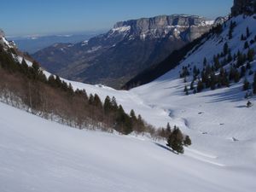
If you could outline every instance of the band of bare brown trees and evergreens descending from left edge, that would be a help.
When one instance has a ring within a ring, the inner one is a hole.
[[[166,141],[172,135],[170,127],[168,131],[167,128],[155,129],[134,110],[130,114],[125,113],[114,97],[107,96],[102,102],[96,94],[88,96],[85,90],[73,90],[72,84],[67,84],[58,76],[46,78],[36,61],[32,67],[28,67],[25,60],[21,64],[16,61],[12,52],[15,53],[14,50],[6,51],[0,47],[2,102],[79,129],[118,131],[125,135],[134,131]],[[180,142],[184,145],[183,141]],[[172,149],[177,151],[174,144]]]

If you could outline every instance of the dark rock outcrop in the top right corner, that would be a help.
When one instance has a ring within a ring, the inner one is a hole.
[[[231,9],[231,15],[255,14],[256,0],[234,0],[234,6]]]

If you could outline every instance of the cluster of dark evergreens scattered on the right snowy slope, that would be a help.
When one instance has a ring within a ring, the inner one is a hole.
[[[229,32],[230,39],[233,38],[235,27],[236,22],[231,21]],[[253,67],[251,66],[251,62],[254,60],[255,52],[254,49],[251,49],[250,47],[251,45],[255,44],[256,36],[251,37],[249,27],[246,29],[246,35],[241,34],[241,41],[245,41],[243,51],[238,50],[237,53],[232,55],[230,46],[226,42],[222,52],[218,53],[218,55],[213,55],[212,62],[208,62],[207,58],[202,59],[202,70],[196,66],[194,66],[193,69],[192,66],[189,65],[183,67],[182,71],[180,72],[180,78],[183,78],[185,83],[188,76],[191,73],[193,74],[190,89],[188,89],[188,85],[185,85],[185,94],[189,95],[189,92],[197,93],[201,92],[201,90],[209,88],[211,90],[215,90],[221,87],[230,87],[230,83],[238,83],[241,79],[243,79],[244,84],[242,90],[247,90],[245,97],[248,98],[249,96],[253,96],[253,94],[256,93],[254,91],[255,83],[254,81],[249,82],[247,77],[255,73],[253,72]],[[228,64],[230,65],[227,66]]]

